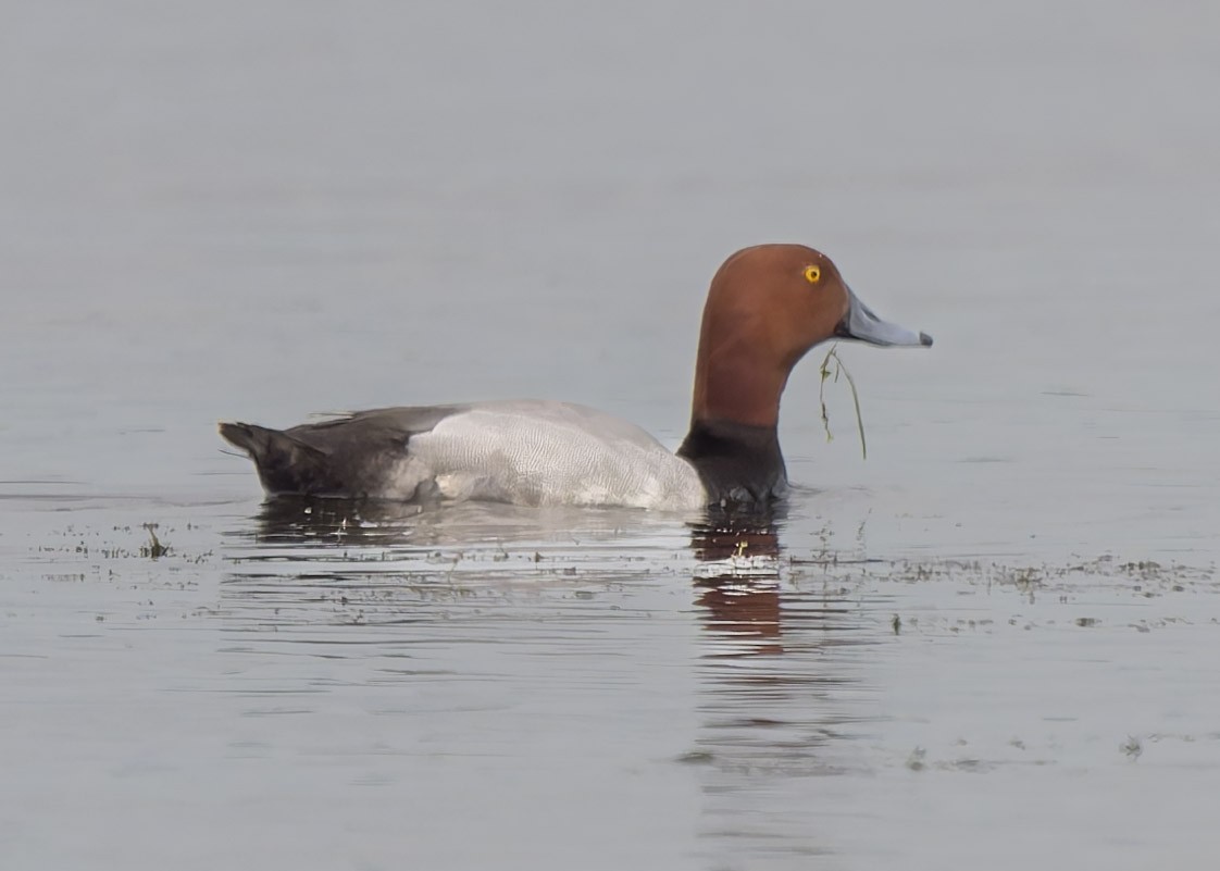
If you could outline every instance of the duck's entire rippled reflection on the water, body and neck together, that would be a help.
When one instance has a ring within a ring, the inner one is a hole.
[[[878,634],[850,592],[859,570],[802,561],[809,554],[784,542],[794,528],[831,538],[782,509],[716,511],[692,525],[630,510],[274,499],[235,533],[228,620],[260,634],[272,627],[277,649],[292,642],[318,656],[334,656],[340,642],[367,658],[431,639],[442,651],[431,655],[455,673],[489,666],[453,666],[445,651],[454,644],[526,639],[554,645],[556,662],[593,679],[597,668],[581,660],[590,638],[647,650],[651,636],[640,627],[658,615],[688,621],[693,601],[689,666],[665,665],[689,667],[693,678],[682,684],[697,722],[687,761],[698,766],[709,850],[743,859],[760,844],[822,851],[827,833],[794,819],[778,797],[805,788],[793,777],[858,765],[854,738],[874,717],[860,645]],[[681,593],[688,583],[691,599]],[[576,584],[586,598],[570,595]],[[532,634],[559,621],[566,634]],[[655,650],[638,661],[655,662]],[[647,670],[619,679],[649,686]],[[521,692],[549,693],[529,683]],[[550,727],[560,728],[532,728]]]

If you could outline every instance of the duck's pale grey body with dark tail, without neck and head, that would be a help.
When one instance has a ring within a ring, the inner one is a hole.
[[[633,423],[570,403],[377,409],[284,432],[223,423],[221,434],[266,457],[259,476],[273,494],[675,511],[706,504],[689,462]]]

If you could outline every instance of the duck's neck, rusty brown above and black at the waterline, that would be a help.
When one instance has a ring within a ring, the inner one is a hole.
[[[700,355],[695,370],[691,432],[677,453],[711,503],[770,501],[788,487],[776,432],[788,375],[752,362],[741,353]]]

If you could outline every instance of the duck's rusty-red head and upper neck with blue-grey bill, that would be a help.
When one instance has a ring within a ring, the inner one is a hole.
[[[821,251],[783,244],[738,251],[708,292],[693,418],[776,426],[788,375],[826,339],[932,344],[927,333],[877,317]]]

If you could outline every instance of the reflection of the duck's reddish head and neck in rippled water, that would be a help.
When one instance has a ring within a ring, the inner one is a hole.
[[[782,511],[715,514],[695,527],[694,603],[702,830],[710,853],[826,851],[826,838],[772,797],[793,777],[834,775],[872,719],[852,650],[872,637],[837,567],[788,559]]]

